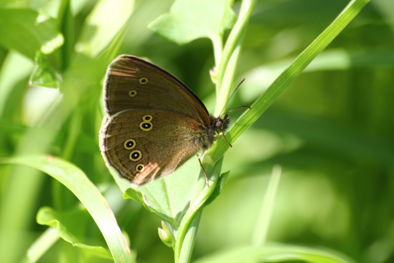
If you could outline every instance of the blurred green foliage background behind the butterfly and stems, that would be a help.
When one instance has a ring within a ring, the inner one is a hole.
[[[0,157],[50,153],[84,170],[110,203],[140,263],[173,262],[173,250],[158,237],[160,219],[136,201],[123,200],[102,160],[100,93],[111,59],[92,58],[105,52],[126,24],[112,55],[136,55],[167,69],[212,112],[210,40],[178,46],[147,29],[172,2],[136,0],[133,7],[133,1],[122,0],[0,1]],[[250,105],[346,4],[258,1],[234,87],[246,80],[228,108]],[[239,7],[236,1],[236,13]],[[3,11],[8,8],[35,10],[33,19],[13,18],[26,29],[41,21],[41,15],[47,23],[41,35],[28,35],[28,29],[7,31],[10,16]],[[40,39],[53,39],[56,32],[63,34],[64,44],[51,54],[41,48],[44,54],[36,56]],[[37,81],[44,79],[37,73],[41,69],[47,74],[44,84],[52,88]],[[394,2],[372,0],[225,153],[222,171],[232,173],[221,195],[203,211],[192,261],[250,242],[268,175],[280,164],[269,241],[336,250],[357,262],[393,262],[393,88]],[[230,117],[235,120],[241,113]],[[19,262],[47,228],[35,220],[43,206],[71,218],[80,211],[74,195],[52,177],[24,166],[0,165],[1,263]],[[83,222],[71,223],[78,237],[105,246],[94,221],[82,217]],[[59,240],[38,262],[111,261],[86,256]]]

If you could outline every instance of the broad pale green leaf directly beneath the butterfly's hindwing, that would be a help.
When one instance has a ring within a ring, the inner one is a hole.
[[[171,224],[175,232],[174,250],[175,261],[177,262],[181,250],[184,248],[182,243],[188,233],[189,224],[216,189],[221,162],[219,160],[213,163],[204,159],[203,164],[209,178],[209,187],[206,187],[204,173],[200,170],[197,157],[191,158],[170,175],[136,188],[132,187],[126,179],[122,179],[114,168],[110,167],[109,170],[122,192],[124,192],[124,198],[134,199],[142,203],[148,211],[155,213]],[[226,178],[226,174],[223,178]],[[219,189],[220,187],[217,190]],[[201,213],[199,213],[199,216],[201,216]],[[196,221],[197,226],[199,216]],[[196,226],[193,226],[193,228],[196,228]],[[194,244],[194,241],[191,241],[191,243]]]

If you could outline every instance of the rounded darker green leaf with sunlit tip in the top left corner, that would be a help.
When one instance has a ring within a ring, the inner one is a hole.
[[[0,9],[0,45],[34,59],[35,52],[52,53],[61,47],[58,22],[32,9]]]

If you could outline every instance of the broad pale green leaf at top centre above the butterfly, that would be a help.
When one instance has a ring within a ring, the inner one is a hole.
[[[229,0],[176,0],[170,12],[159,16],[148,27],[156,34],[183,45],[208,37],[215,41],[232,28],[235,14]]]

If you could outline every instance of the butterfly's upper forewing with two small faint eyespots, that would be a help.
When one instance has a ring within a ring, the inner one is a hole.
[[[108,66],[104,103],[110,116],[126,109],[179,112],[208,125],[201,100],[171,73],[141,58],[121,55]]]

